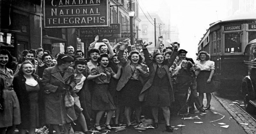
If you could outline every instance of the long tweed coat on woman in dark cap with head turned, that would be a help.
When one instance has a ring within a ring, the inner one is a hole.
[[[76,79],[74,69],[68,67],[64,70],[62,77],[57,69],[58,65],[44,69],[42,86],[44,90],[50,91],[45,94],[45,122],[47,124],[66,124],[76,120],[74,106],[70,108],[65,107],[65,91],[57,91],[59,86],[64,87],[69,84],[73,89],[76,86]],[[63,89],[62,89],[63,90]]]

